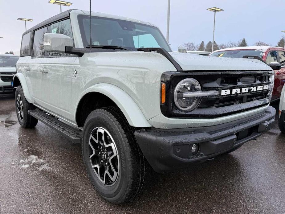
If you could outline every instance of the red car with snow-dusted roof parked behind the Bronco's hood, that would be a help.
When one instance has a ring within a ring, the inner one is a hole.
[[[258,59],[265,62],[275,72],[271,101],[280,98],[285,81],[285,48],[270,46],[231,47],[214,51],[210,56]]]

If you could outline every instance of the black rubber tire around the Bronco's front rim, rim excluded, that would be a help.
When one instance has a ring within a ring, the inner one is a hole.
[[[98,126],[112,135],[119,154],[121,167],[112,186],[106,186],[99,180],[89,159],[89,137]],[[104,107],[88,115],[83,127],[82,155],[88,177],[105,200],[121,204],[131,201],[140,193],[145,178],[145,159],[134,137],[133,128],[119,108]]]

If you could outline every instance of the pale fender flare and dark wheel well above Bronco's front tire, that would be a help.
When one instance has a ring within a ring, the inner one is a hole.
[[[94,99],[94,97],[96,97],[96,99]],[[84,106],[86,106],[85,103],[88,101],[95,101],[95,103],[101,101],[105,103],[105,105],[102,105],[100,103],[100,105],[97,105],[98,107],[107,107],[108,105],[117,106],[126,117],[130,126],[151,127],[135,101],[119,87],[107,83],[99,83],[93,85],[84,90],[84,92],[81,94],[80,99],[76,103],[74,118],[79,127],[82,127],[84,125],[85,119],[88,116],[82,115],[82,110],[86,111],[86,109],[84,109]],[[89,107],[87,107],[87,109],[88,108]],[[92,110],[94,109],[96,109],[96,107],[93,105]],[[86,111],[86,114],[90,110],[91,109],[88,109],[88,111]],[[84,117],[86,118],[84,119]]]

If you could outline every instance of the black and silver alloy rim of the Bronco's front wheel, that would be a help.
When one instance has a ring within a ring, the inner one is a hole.
[[[89,137],[89,159],[97,178],[112,186],[120,171],[118,150],[111,134],[103,127],[96,127]]]

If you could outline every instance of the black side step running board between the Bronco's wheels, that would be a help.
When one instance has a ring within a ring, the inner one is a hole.
[[[59,121],[57,118],[48,115],[47,113],[39,109],[29,110],[28,114],[30,114],[32,117],[35,117],[36,119],[43,122],[45,125],[51,127],[52,129],[60,132],[61,134],[69,138],[72,142],[81,143],[81,137],[82,137],[81,130],[69,126]]]

